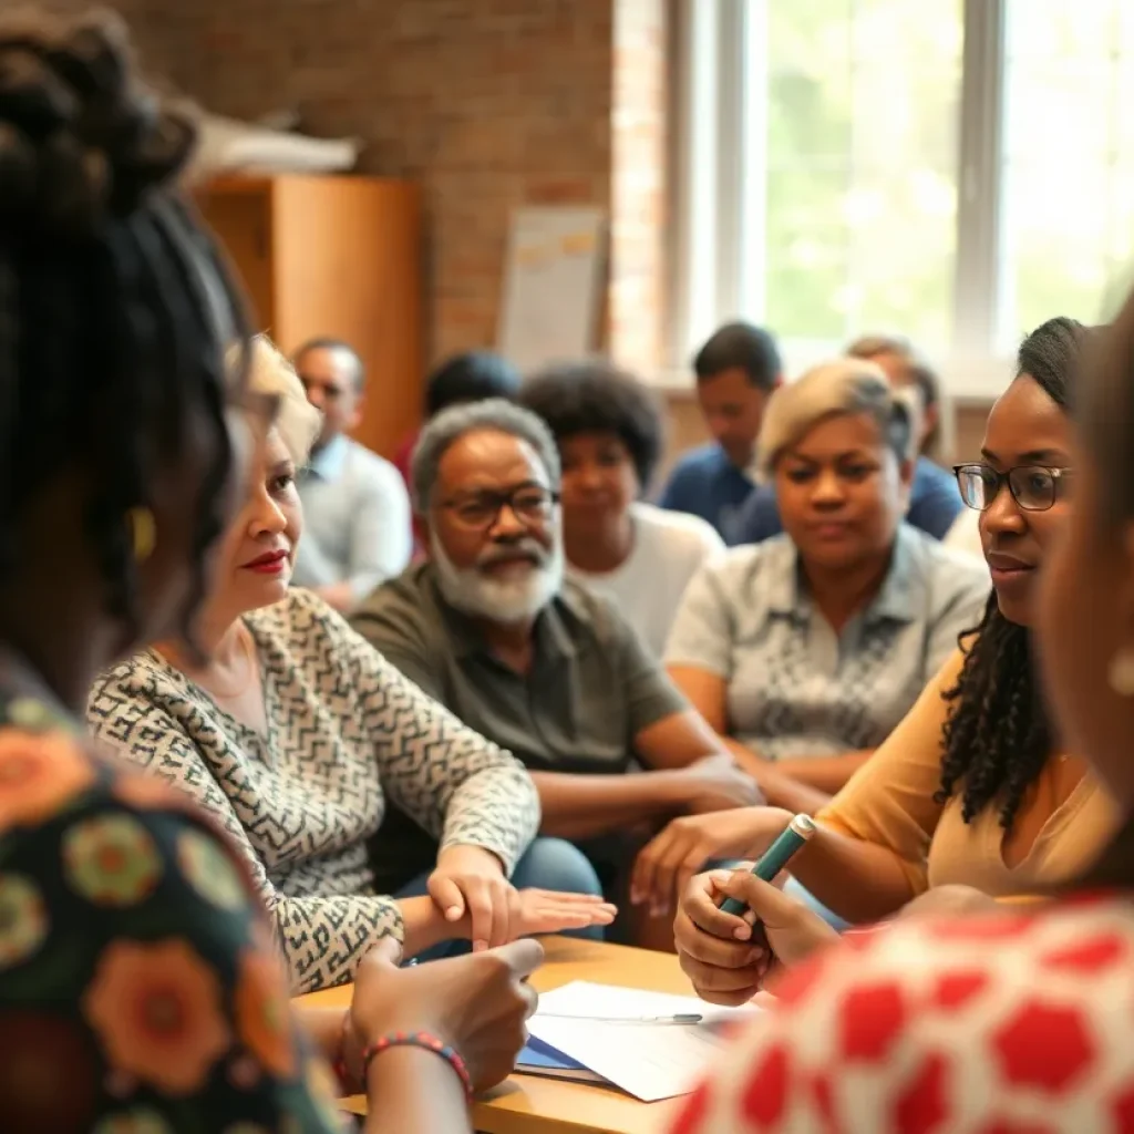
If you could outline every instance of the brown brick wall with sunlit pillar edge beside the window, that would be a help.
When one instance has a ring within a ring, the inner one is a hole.
[[[238,117],[296,108],[425,187],[430,357],[496,337],[509,214],[612,217],[608,339],[655,362],[667,0],[118,0],[151,69]],[[78,10],[82,0],[58,0]]]

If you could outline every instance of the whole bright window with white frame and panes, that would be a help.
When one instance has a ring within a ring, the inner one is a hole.
[[[675,364],[898,331],[954,393],[1099,321],[1134,254],[1131,0],[686,0]],[[692,169],[689,168],[692,166]]]

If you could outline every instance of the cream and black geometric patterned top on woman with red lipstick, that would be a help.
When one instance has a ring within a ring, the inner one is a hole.
[[[497,854],[510,873],[539,797],[510,755],[390,666],[324,602],[294,589],[245,616],[268,734],[237,721],[155,651],[94,684],[98,739],[193,798],[243,852],[274,920],[294,993],[339,984],[380,937],[403,936],[373,892],[366,841],[387,798],[440,846]]]

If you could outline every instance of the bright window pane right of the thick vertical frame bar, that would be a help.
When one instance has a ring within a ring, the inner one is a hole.
[[[1005,345],[1052,315],[1094,322],[1134,252],[1129,0],[1008,0]]]

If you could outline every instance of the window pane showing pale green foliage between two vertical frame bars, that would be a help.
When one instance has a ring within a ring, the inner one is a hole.
[[[947,341],[960,0],[767,0],[764,293],[754,313],[832,347]],[[758,76],[758,79],[760,77]],[[754,205],[759,206],[759,205]]]

